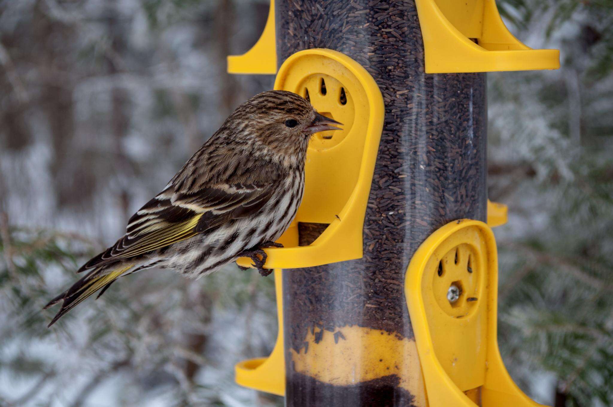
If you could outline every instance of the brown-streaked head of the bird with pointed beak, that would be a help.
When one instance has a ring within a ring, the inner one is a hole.
[[[320,115],[302,96],[287,91],[267,91],[238,106],[229,120],[240,123],[241,134],[280,154],[307,151],[316,132],[341,130],[336,120]]]

